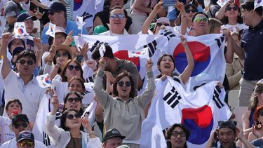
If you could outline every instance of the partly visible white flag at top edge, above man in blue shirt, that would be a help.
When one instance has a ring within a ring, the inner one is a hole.
[[[96,13],[103,11],[104,0],[76,0],[74,1],[73,17],[83,17],[85,27],[93,27],[93,18]]]

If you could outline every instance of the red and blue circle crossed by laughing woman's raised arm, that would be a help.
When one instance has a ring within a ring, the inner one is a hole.
[[[210,63],[210,47],[198,41],[189,41],[187,45],[190,48],[191,54],[194,57],[194,70],[191,76],[201,74]],[[187,55],[184,52],[182,43],[179,43],[173,51],[173,58],[175,58],[175,68],[182,74],[185,67],[187,67]]]

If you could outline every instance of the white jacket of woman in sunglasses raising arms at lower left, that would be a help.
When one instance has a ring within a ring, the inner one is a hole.
[[[69,131],[65,131],[62,128],[58,128],[58,126],[55,126],[54,115],[48,114],[46,116],[46,129],[44,131],[50,136],[50,141],[55,144],[55,147],[64,148],[70,141]],[[81,138],[82,137],[87,144],[87,147],[102,148],[102,144],[98,137],[90,138],[87,133],[81,131]]]

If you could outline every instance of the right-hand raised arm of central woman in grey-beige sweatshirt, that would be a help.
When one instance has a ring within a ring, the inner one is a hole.
[[[146,63],[146,74],[148,78],[147,88],[141,95],[137,96],[139,105],[142,106],[142,108],[144,109],[145,107],[147,107],[147,105],[149,105],[149,102],[151,102],[151,99],[154,97],[155,92],[154,73],[151,70],[152,65],[154,65],[154,62],[152,62],[151,59],[148,59]]]

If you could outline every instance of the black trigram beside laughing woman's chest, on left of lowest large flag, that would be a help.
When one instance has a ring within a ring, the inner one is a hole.
[[[179,95],[179,93],[175,90],[175,87],[173,86],[173,88],[170,90],[169,93],[166,94],[166,96],[163,97],[163,100],[166,102],[167,100],[167,104],[172,107],[173,109],[176,107],[176,105],[178,105],[179,100],[182,99],[182,97]]]

